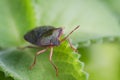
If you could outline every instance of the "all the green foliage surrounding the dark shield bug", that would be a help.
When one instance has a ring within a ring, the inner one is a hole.
[[[87,80],[83,68],[90,80],[119,80],[119,8],[119,0],[1,0],[0,80]],[[28,45],[23,35],[40,25],[64,27],[65,34],[80,25],[70,37],[80,54],[67,42],[54,48],[58,77],[48,61],[49,51],[29,70],[38,50],[16,48]]]

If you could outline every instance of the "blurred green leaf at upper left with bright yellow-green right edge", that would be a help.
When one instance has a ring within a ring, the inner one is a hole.
[[[20,45],[35,24],[30,0],[0,1],[0,47]]]

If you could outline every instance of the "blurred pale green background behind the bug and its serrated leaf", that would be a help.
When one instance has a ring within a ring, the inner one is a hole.
[[[1,0],[0,53],[26,45],[23,35],[40,25],[64,27],[65,34],[80,25],[70,38],[78,46],[88,79],[120,80],[120,0]],[[1,65],[7,64],[2,60]],[[0,67],[0,80],[13,80],[16,72],[7,77],[9,68]],[[85,80],[68,77],[63,80]]]

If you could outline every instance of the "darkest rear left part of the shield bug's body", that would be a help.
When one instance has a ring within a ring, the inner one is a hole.
[[[52,26],[41,26],[37,27],[31,31],[29,31],[27,34],[24,35],[24,39],[34,45],[38,45],[38,41],[42,38],[42,36],[46,33],[49,32],[49,30],[55,29]]]

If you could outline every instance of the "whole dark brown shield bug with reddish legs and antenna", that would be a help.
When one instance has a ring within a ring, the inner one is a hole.
[[[63,35],[63,28],[55,28],[53,26],[40,26],[27,32],[24,35],[24,39],[35,46],[26,46],[24,48],[39,48],[39,47],[45,48],[43,50],[38,51],[35,54],[34,61],[32,65],[30,66],[30,69],[32,69],[34,65],[36,64],[36,57],[40,55],[41,53],[44,53],[45,51],[50,49],[49,61],[54,67],[54,69],[56,70],[56,76],[58,76],[58,68],[52,61],[53,47],[59,46],[63,41],[68,40],[71,48],[74,51],[77,51],[70,43],[68,37],[78,28],[79,26],[74,28],[66,37],[64,37],[61,40],[60,40],[60,37],[61,35]]]

